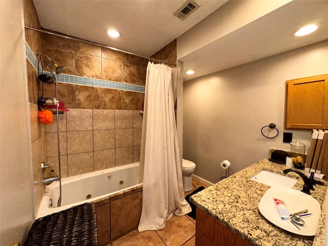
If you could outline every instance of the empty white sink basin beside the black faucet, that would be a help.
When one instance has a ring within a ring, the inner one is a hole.
[[[285,188],[292,188],[297,182],[297,179],[295,178],[282,176],[264,170],[251,177],[251,180],[264,183],[264,185],[271,186],[271,187],[285,187]]]

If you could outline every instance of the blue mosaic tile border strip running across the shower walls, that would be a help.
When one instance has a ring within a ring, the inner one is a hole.
[[[25,42],[25,51],[26,57],[29,59],[35,70],[37,71],[38,63],[37,59],[35,58],[33,52],[29,45]],[[42,72],[42,68],[39,67],[39,71]],[[51,74],[47,71],[44,71],[45,74]],[[117,90],[126,90],[126,91],[136,91],[136,92],[144,92],[145,93],[145,86],[137,86],[131,85],[126,83],[120,83],[110,80],[103,80],[103,79],[96,79],[96,78],[88,78],[88,77],[81,77],[75,75],[67,75],[67,74],[56,74],[56,79],[58,82],[63,83],[70,83],[76,85],[85,85],[85,86],[95,86],[95,87],[104,87],[104,88],[111,88]]]

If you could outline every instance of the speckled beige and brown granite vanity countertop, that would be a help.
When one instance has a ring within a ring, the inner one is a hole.
[[[321,216],[315,236],[301,236],[285,231],[269,222],[259,212],[258,203],[270,187],[251,181],[250,177],[262,170],[284,175],[284,169],[286,169],[285,165],[276,164],[265,158],[196,193],[190,200],[253,245],[324,245],[326,182],[324,185],[315,186],[315,191],[311,191],[311,196],[317,199],[321,206]],[[290,172],[285,176],[298,179],[293,189],[299,191],[302,189],[303,180],[299,175]]]

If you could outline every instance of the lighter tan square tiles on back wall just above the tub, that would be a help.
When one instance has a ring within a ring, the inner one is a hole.
[[[47,163],[58,170],[56,115],[46,127]],[[69,109],[59,114],[61,177],[139,161],[138,110]]]

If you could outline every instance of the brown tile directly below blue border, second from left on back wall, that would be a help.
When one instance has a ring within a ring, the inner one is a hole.
[[[76,106],[79,109],[100,109],[101,88],[76,86]]]

